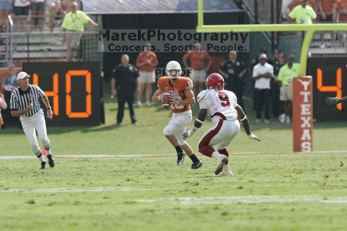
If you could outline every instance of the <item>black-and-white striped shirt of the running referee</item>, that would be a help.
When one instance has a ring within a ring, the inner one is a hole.
[[[43,90],[36,85],[29,84],[28,90],[26,91],[22,91],[22,89],[18,87],[11,93],[10,109],[11,111],[22,111],[32,103],[33,109],[23,116],[34,116],[41,111],[39,97],[43,98],[44,96],[45,93]]]

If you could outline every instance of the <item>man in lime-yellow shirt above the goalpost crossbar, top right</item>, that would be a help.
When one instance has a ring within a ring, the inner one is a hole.
[[[301,4],[295,6],[288,16],[295,19],[296,23],[312,24],[312,19],[315,19],[317,14],[311,6],[307,5],[307,0],[301,0]]]

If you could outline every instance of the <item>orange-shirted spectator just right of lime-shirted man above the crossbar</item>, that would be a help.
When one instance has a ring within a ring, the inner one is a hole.
[[[319,12],[321,13],[320,21],[326,22],[326,23],[332,23],[333,22],[333,15],[335,15],[335,12],[333,12],[333,9],[336,9],[336,0],[318,0],[318,8]],[[324,43],[324,36],[325,33],[321,33],[321,40],[322,45],[321,48],[325,48]],[[331,40],[335,40],[335,33],[331,33]]]

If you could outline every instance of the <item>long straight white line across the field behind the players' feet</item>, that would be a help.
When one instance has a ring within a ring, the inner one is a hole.
[[[316,151],[316,152],[284,152],[284,153],[262,153],[262,152],[252,152],[252,153],[232,153],[231,156],[259,156],[259,155],[312,155],[312,154],[347,154],[347,151]],[[155,154],[155,155],[55,155],[58,159],[80,159],[80,158],[148,158],[148,157],[176,157],[176,154]],[[202,155],[198,155],[202,156]],[[34,155],[32,156],[0,156],[0,160],[16,160],[16,159],[37,159]]]

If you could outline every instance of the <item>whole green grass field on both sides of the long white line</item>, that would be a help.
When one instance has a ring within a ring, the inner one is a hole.
[[[136,108],[139,126],[128,112],[116,124],[116,101],[106,100],[107,123],[95,127],[49,127],[55,155],[173,154],[162,135],[171,118],[159,104]],[[194,115],[197,107],[193,108]],[[291,152],[291,125],[272,119],[244,131],[231,153]],[[196,144],[205,130],[188,142]],[[213,176],[216,161],[189,171],[186,158],[56,159],[54,169],[39,170],[34,160],[0,160],[0,231],[325,231],[347,226],[347,122],[314,123],[314,150],[320,155],[231,156],[233,177]],[[40,144],[41,145],[41,144]],[[24,132],[0,131],[0,157],[33,157]]]

